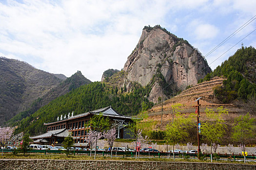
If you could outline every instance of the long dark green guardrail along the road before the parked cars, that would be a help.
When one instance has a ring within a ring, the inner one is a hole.
[[[73,152],[74,155],[76,154],[94,154],[95,151],[83,151],[83,150],[71,150]],[[0,150],[0,152],[4,152],[4,153],[12,153],[14,152],[14,149],[3,149],[3,150]],[[30,149],[27,151],[27,153],[44,153],[44,154],[47,154],[47,153],[57,153],[57,154],[60,154],[60,153],[63,153],[62,150],[34,150],[34,149]],[[111,151],[96,151],[96,154],[98,155],[102,155],[102,156],[105,156],[105,155],[111,155]],[[126,156],[126,157],[135,157],[135,154],[136,152],[128,152],[128,151],[113,151],[112,152],[112,155],[118,155],[118,156]],[[138,154],[138,152],[137,152]],[[181,153],[174,153],[175,156],[177,157],[185,157],[187,155],[190,156],[190,158],[197,158],[197,154],[181,154]],[[167,153],[167,152],[139,152],[139,155],[140,156],[152,156],[152,157],[172,157],[173,156],[173,153]],[[210,154],[202,154],[202,155],[206,155],[206,157],[209,157],[210,158]],[[236,154],[218,154],[219,158],[227,158],[227,159],[234,159],[236,161],[236,159],[243,159],[244,156],[243,155],[236,155]],[[256,156],[255,155],[249,155],[249,156],[246,156],[246,159],[256,159]]]

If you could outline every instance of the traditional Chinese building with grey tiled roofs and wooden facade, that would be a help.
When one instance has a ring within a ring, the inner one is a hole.
[[[30,138],[34,140],[34,143],[60,146],[64,138],[68,136],[69,133],[72,133],[75,146],[87,147],[87,136],[91,129],[88,122],[97,114],[102,114],[104,117],[110,119],[112,127],[116,127],[118,131],[118,138],[130,138],[127,134],[126,126],[132,121],[131,117],[119,114],[111,106],[75,116],[73,116],[73,112],[71,115],[69,113],[67,117],[66,115],[64,115],[64,117],[61,115],[60,119],[58,117],[55,122],[44,123],[44,125],[47,126],[46,133]]]

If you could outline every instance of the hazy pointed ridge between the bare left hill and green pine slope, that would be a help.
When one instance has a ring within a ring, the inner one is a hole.
[[[78,88],[81,85],[87,85],[91,83],[90,80],[85,78],[80,71],[73,74],[71,77],[66,78],[65,81],[61,82],[57,87],[52,88],[48,93],[46,93],[41,98],[35,100],[29,109],[20,112],[12,119],[10,119],[7,123],[8,124],[15,124],[16,121],[19,121],[23,118],[30,116],[31,114],[35,113],[40,107],[48,104],[52,100],[56,99],[57,97],[64,95],[70,92],[73,89]]]

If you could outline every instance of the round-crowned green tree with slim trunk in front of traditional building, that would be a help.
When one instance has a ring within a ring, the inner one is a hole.
[[[89,122],[91,129],[97,133],[95,133],[96,137],[96,144],[95,144],[95,153],[94,159],[96,159],[96,150],[97,150],[97,142],[98,136],[101,136],[103,132],[110,129],[110,122],[108,117],[104,117],[103,114],[95,114]],[[99,135],[100,134],[100,135]]]

